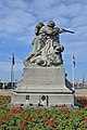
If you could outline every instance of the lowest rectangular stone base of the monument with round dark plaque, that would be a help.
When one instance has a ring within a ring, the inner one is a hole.
[[[24,105],[74,105],[74,94],[50,94],[50,93],[13,93],[12,104],[24,104]]]

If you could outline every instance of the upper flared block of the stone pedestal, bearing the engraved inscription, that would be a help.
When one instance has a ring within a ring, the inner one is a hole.
[[[17,84],[17,91],[70,91],[65,86],[65,73],[63,66],[58,67],[25,67],[23,80]],[[50,89],[50,90],[49,90]]]

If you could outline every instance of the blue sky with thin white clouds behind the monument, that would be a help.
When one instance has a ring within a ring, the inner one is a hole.
[[[14,51],[14,78],[21,80],[23,60],[32,52],[38,22],[53,20],[58,27],[74,30],[62,34],[63,62],[72,81],[72,53],[75,80],[87,80],[87,0],[0,0],[0,80],[10,81],[11,54]]]

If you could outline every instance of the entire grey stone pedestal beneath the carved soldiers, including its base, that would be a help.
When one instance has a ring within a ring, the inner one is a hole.
[[[59,104],[74,105],[72,86],[67,84],[63,66],[37,67],[27,66],[23,79],[13,92],[13,104]]]

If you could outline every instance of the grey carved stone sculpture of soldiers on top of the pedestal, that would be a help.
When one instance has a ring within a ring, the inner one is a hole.
[[[36,32],[37,37],[33,40],[33,52],[24,60],[24,65],[58,66],[63,64],[64,47],[60,44],[59,35],[64,30],[54,27],[53,21],[49,21],[47,25],[42,23],[40,25]]]

